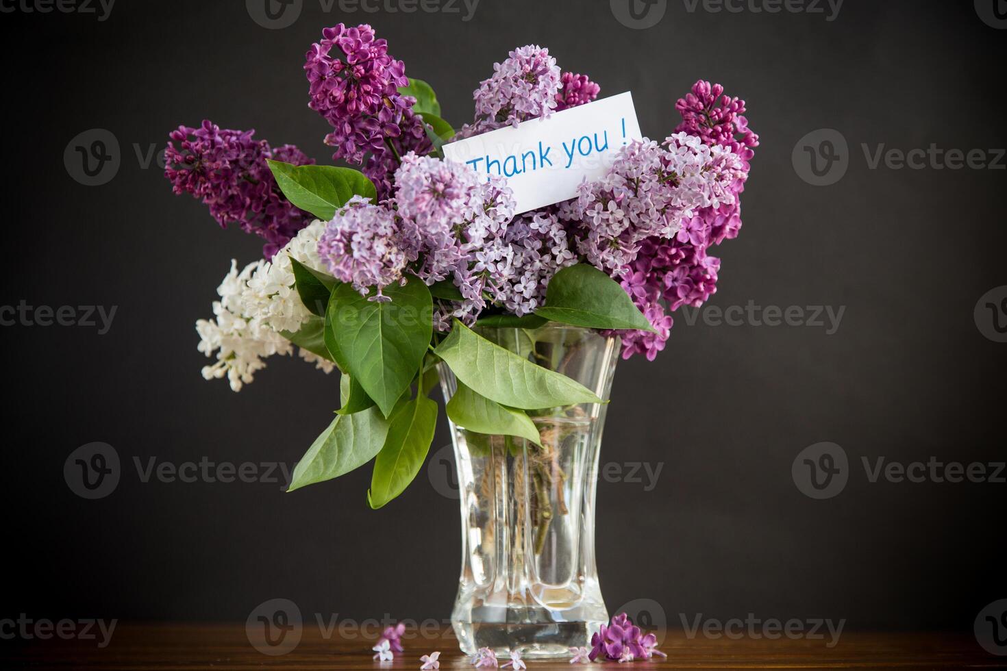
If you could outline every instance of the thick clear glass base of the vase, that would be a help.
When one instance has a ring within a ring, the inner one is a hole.
[[[570,648],[590,646],[600,622],[471,623],[453,621],[462,652],[474,655],[489,648],[500,661],[517,650],[524,659],[570,657]]]

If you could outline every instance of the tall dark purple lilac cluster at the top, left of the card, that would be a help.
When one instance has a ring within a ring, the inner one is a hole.
[[[322,30],[321,41],[305,55],[304,70],[308,107],[332,126],[325,136],[325,144],[335,148],[332,158],[363,164],[379,198],[385,198],[398,157],[432,148],[422,118],[412,110],[416,101],[399,93],[409,83],[402,61],[389,55],[388,42],[377,39],[370,25],[340,23]]]

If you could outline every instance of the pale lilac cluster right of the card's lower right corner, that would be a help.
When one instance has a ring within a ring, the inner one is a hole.
[[[695,136],[679,133],[662,145],[636,140],[619,150],[604,177],[580,185],[560,217],[575,227],[577,250],[617,276],[643,240],[671,239],[696,210],[733,203],[740,175],[736,154]]]

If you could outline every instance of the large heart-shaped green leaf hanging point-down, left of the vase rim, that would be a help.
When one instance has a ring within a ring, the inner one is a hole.
[[[325,342],[389,416],[430,344],[433,300],[426,285],[412,276],[405,286],[389,285],[384,294],[391,301],[369,301],[349,284],[336,287],[325,313]]]

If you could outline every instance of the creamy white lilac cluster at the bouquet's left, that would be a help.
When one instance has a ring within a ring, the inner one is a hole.
[[[204,378],[227,377],[231,388],[240,391],[266,366],[263,359],[293,352],[280,332],[297,331],[311,314],[294,288],[290,257],[319,268],[318,238],[324,228],[325,223],[317,220],[302,228],[272,262],[257,261],[241,272],[237,262],[231,262],[231,271],[217,289],[221,300],[213,303],[213,319],[200,319],[195,325],[198,350],[217,355],[214,364],[202,368]],[[305,349],[299,354],[326,373],[333,369],[330,361]]]

